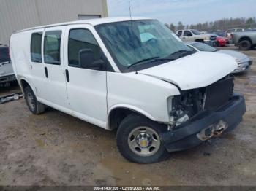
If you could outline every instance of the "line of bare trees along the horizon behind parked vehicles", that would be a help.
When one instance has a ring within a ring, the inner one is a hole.
[[[220,20],[215,20],[206,23],[197,23],[192,25],[184,25],[181,21],[178,22],[178,25],[173,23],[165,24],[170,30],[177,31],[183,29],[197,29],[198,31],[227,31],[231,28],[256,28],[256,18],[223,18]]]

